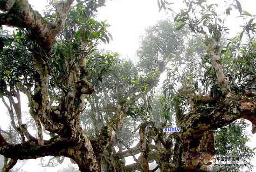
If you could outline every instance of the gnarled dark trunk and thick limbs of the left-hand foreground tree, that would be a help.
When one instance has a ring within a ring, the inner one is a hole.
[[[70,157],[76,161],[81,171],[99,172],[100,167],[95,156],[96,152],[93,151],[90,139],[79,126],[79,118],[77,118],[82,110],[82,95],[90,94],[93,91],[92,85],[87,82],[86,71],[83,66],[77,66],[78,69],[76,70],[79,70],[79,72],[76,73],[78,77],[73,78],[73,88],[66,90],[61,85],[63,92],[66,94],[62,104],[54,107],[48,101],[48,80],[49,75],[52,74],[48,66],[50,51],[56,34],[60,32],[65,23],[73,1],[66,0],[56,4],[56,20],[55,22],[49,22],[30,7],[28,0],[0,0],[0,10],[4,12],[0,14],[0,25],[26,28],[36,35],[34,41],[40,45],[37,49],[33,49],[35,66],[34,95],[26,92],[30,103],[30,113],[33,114],[32,116],[39,130],[39,139],[31,138],[28,131],[25,130],[26,126],[22,127],[21,120],[18,120],[18,128],[14,122],[12,122],[12,125],[19,129],[19,132],[25,135],[28,140],[25,141],[24,139],[22,144],[13,145],[1,136],[0,152],[12,159],[35,159],[47,155]],[[10,94],[10,96],[13,95]],[[16,115],[20,117],[20,109],[15,108],[16,104],[14,102],[11,105],[14,106]],[[9,112],[11,111],[12,108]],[[62,121],[60,122],[58,118],[62,118]],[[41,124],[49,132],[58,135],[50,140],[43,140]],[[102,137],[99,138],[98,143],[101,143],[100,139]],[[103,142],[104,139],[103,137]]]

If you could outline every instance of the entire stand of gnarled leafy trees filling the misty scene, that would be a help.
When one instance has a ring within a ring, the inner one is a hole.
[[[176,14],[174,25],[169,20],[148,28],[134,65],[96,50],[100,41],[111,40],[106,22],[95,20],[104,0],[49,1],[44,16],[27,0],[0,0],[0,25],[18,28],[0,39],[0,93],[21,138],[12,143],[0,135],[0,154],[11,159],[8,168],[17,159],[51,155],[58,163],[70,158],[81,172],[208,171],[198,158],[220,153],[223,142],[216,139],[215,151],[214,138],[223,134],[214,130],[248,119],[255,133],[253,16],[230,1],[225,16],[236,8],[249,20],[237,38],[225,41],[228,28],[215,12],[218,5],[183,2],[187,8]],[[160,10],[172,10],[168,6],[159,0]],[[249,43],[241,46],[244,33]],[[157,104],[155,89],[165,71]],[[22,120],[21,93],[28,97],[37,137]],[[163,132],[173,117],[180,132]],[[44,130],[51,139],[43,139]],[[131,147],[135,138],[138,144]],[[125,165],[129,156],[135,163]],[[158,165],[150,170],[154,160]]]

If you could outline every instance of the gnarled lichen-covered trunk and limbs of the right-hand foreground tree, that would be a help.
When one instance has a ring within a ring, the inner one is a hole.
[[[217,81],[223,97],[216,99],[214,97],[197,96],[194,88],[182,86],[179,90],[181,96],[186,97],[189,105],[192,107],[186,118],[180,114],[179,95],[177,95],[176,121],[180,126],[180,139],[183,141],[182,161],[184,165],[179,165],[181,171],[195,172],[207,171],[197,158],[200,158],[200,152],[214,155],[214,136],[211,130],[226,126],[236,119],[248,119],[252,123],[252,133],[255,131],[256,124],[256,102],[255,97],[247,95],[237,95],[229,88],[228,79],[225,77],[220,62],[221,50],[219,42],[215,38],[206,36],[207,53],[215,68]],[[196,107],[206,104],[214,105],[211,112],[197,110]]]

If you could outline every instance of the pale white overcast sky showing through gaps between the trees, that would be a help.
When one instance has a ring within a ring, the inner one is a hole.
[[[173,9],[178,11],[182,6],[183,0],[173,0],[175,5]],[[224,9],[223,0],[210,0],[211,3],[217,3]],[[47,0],[29,0],[32,7],[42,13]],[[240,0],[243,10],[249,13],[255,14],[256,2],[255,0]],[[171,14],[167,14],[164,10],[159,13],[159,8],[157,5],[157,0],[109,0],[106,3],[106,7],[102,7],[98,10],[97,20],[107,20],[111,25],[109,27],[109,32],[113,36],[113,41],[110,44],[101,44],[101,48],[118,52],[122,56],[129,57],[131,59],[136,59],[136,51],[139,47],[140,36],[145,33],[145,28],[152,26],[157,23],[158,20],[164,20],[166,18],[171,18]],[[229,37],[235,36],[235,34],[241,32],[241,19],[237,18],[239,13],[232,15],[228,18],[226,26],[230,30]],[[27,99],[23,97],[22,99],[22,111],[28,111]],[[7,113],[7,109],[0,102],[0,109],[3,114]],[[1,118],[0,126],[6,128],[9,126],[9,118]],[[251,124],[248,128],[250,133]],[[251,148],[256,147],[256,137],[252,137],[250,143],[248,144]],[[69,161],[68,161],[69,162]],[[256,160],[254,160],[256,165]],[[59,167],[56,168],[42,168],[39,165],[38,160],[29,160],[26,165],[24,165],[23,170],[27,172],[56,172]],[[256,171],[256,168],[255,168]]]

